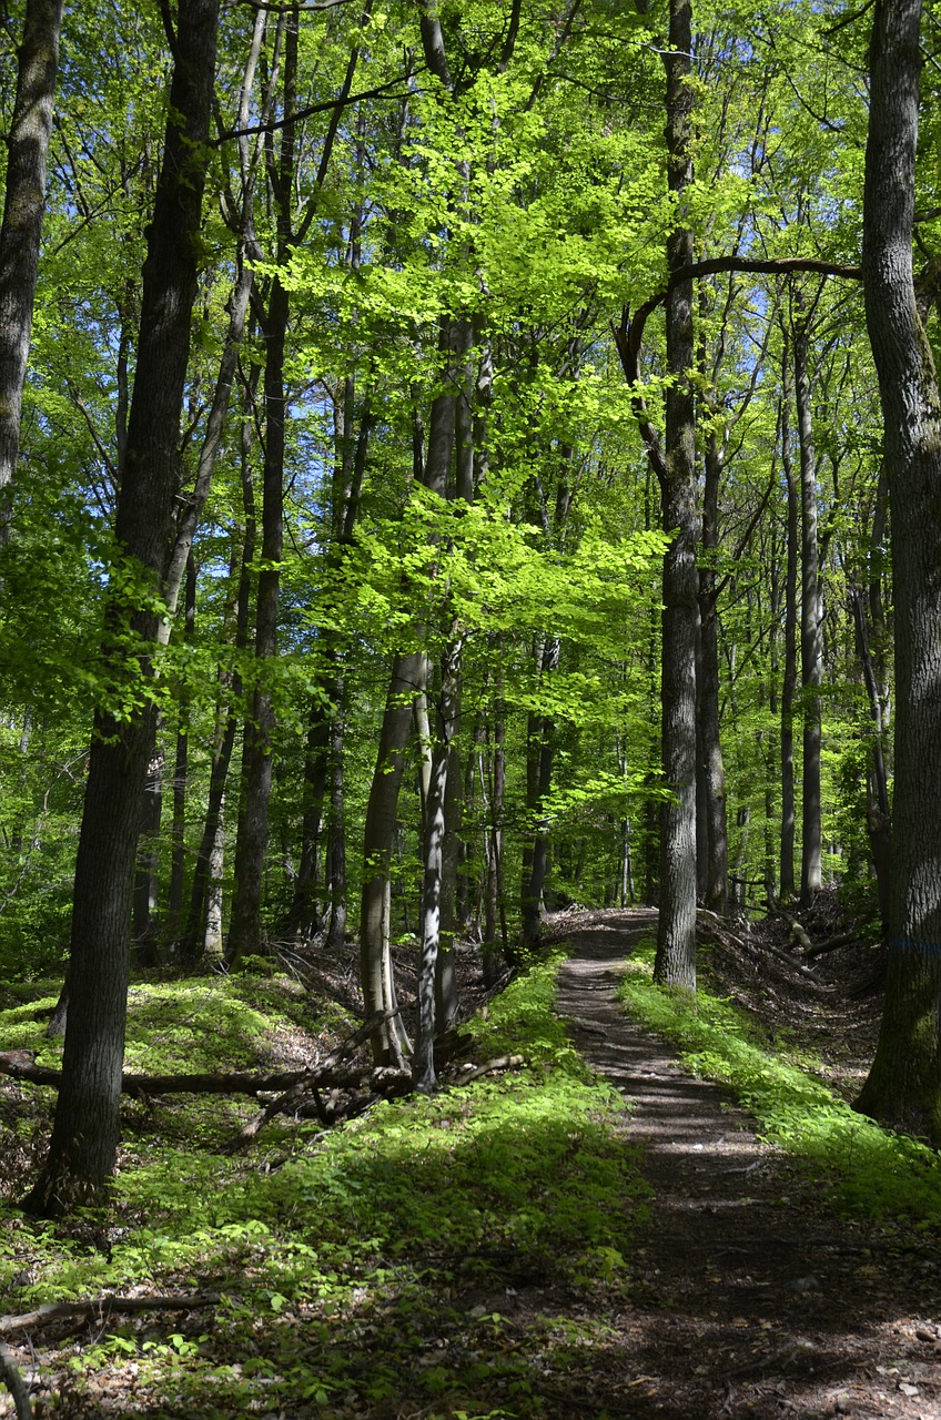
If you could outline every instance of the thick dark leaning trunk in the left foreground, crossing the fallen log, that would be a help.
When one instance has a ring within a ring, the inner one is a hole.
[[[196,300],[196,253],[212,111],[217,0],[182,0],[163,160],[144,264],[138,364],[128,423],[117,542],[161,586],[173,534],[178,439]],[[132,635],[156,643],[152,598],[127,606],[115,579],[107,650],[124,670]],[[28,1206],[55,1213],[95,1197],[114,1172],[128,990],[128,929],[141,795],[154,751],[154,710],[115,721],[100,713],[91,746],[75,863],[71,1000],[50,1154]]]

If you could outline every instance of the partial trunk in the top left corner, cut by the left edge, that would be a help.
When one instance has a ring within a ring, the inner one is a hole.
[[[61,24],[63,0],[27,0],[0,227],[0,544],[10,532],[10,484],[20,452]]]

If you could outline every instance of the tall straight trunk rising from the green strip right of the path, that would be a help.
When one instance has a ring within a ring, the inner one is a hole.
[[[692,182],[692,9],[671,0],[667,68],[667,152],[671,193]],[[677,227],[667,243],[671,271],[694,258],[692,233]],[[664,985],[697,985],[697,467],[692,281],[667,297],[665,476],[662,521],[674,540],[662,578],[662,765],[671,799],[664,805],[660,849],[660,923],[654,977]]]

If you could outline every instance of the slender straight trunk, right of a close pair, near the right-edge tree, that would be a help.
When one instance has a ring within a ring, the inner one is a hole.
[[[820,686],[823,632],[817,541],[817,459],[810,416],[807,322],[795,332],[795,396],[800,443],[800,686],[803,709],[800,906],[810,907],[823,886],[820,805]]]

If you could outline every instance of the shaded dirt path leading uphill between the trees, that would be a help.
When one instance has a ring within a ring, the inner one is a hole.
[[[651,1214],[617,1319],[633,1400],[607,1416],[941,1420],[941,1277],[917,1238],[834,1217],[755,1120],[615,1000],[654,912],[573,932],[559,1012],[618,1089]]]

